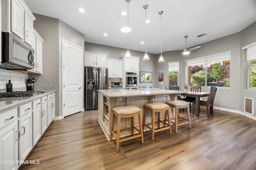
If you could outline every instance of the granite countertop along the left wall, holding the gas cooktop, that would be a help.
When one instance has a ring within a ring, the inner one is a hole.
[[[14,107],[22,106],[49,94],[56,92],[56,90],[44,90],[44,93],[31,96],[31,97],[10,97],[10,98],[0,98],[0,114],[8,111]]]

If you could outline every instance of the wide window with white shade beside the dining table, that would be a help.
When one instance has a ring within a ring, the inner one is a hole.
[[[188,85],[230,87],[231,51],[186,60]]]

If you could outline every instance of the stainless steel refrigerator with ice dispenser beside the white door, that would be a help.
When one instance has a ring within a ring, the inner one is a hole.
[[[108,68],[84,67],[84,108],[98,109],[97,90],[108,89]]]

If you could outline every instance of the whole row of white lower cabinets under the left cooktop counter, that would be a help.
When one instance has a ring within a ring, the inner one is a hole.
[[[55,93],[48,96],[0,114],[0,160],[6,161],[0,170],[18,169],[48,128],[48,117],[54,119]]]

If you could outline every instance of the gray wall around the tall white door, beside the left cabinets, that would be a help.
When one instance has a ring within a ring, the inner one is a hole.
[[[56,116],[62,115],[62,38],[84,48],[84,35],[61,20],[34,14],[34,28],[44,39],[43,74],[35,86],[56,86]]]

